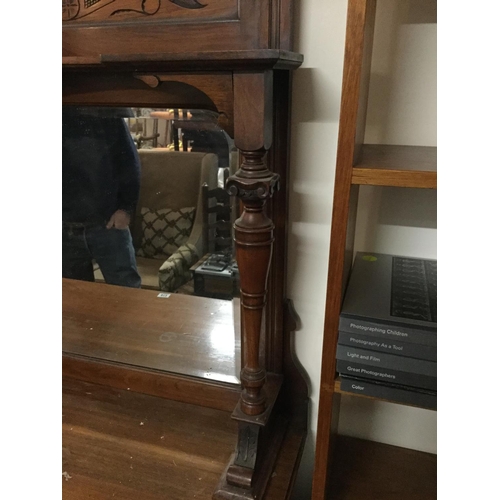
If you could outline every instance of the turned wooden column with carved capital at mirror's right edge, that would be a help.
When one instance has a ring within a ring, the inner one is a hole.
[[[259,415],[266,408],[262,391],[266,373],[259,362],[259,341],[274,239],[274,224],[266,215],[265,204],[279,181],[266,165],[272,142],[271,71],[235,74],[234,103],[235,144],[243,160],[228,179],[227,188],[243,204],[243,213],[234,225],[243,317],[241,411]]]

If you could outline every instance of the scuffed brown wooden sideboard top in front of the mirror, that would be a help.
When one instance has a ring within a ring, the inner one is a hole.
[[[62,402],[68,500],[209,500],[236,444],[220,410],[73,379]]]

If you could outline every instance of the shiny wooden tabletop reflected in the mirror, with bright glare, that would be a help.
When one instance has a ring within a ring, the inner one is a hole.
[[[63,352],[238,384],[237,301],[158,294],[63,279]]]

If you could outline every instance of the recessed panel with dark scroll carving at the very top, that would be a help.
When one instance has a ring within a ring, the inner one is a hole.
[[[63,24],[238,18],[239,0],[62,0]]]

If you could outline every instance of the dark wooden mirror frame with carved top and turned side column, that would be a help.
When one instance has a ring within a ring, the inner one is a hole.
[[[305,438],[307,419],[307,388],[290,346],[294,313],[285,297],[291,70],[302,62],[302,56],[284,50],[291,43],[291,1],[255,0],[250,8],[250,2],[212,0],[207,2],[207,7],[214,5],[207,18],[201,8],[193,9],[190,23],[184,17],[176,24],[167,15],[173,12],[170,4],[157,0],[157,13],[164,17],[149,26],[150,15],[147,21],[132,14],[126,23],[110,22],[112,3],[104,2],[107,7],[83,22],[63,23],[63,104],[219,113],[219,124],[234,137],[241,158],[227,189],[242,207],[234,227],[241,281],[242,389],[68,353],[63,375],[105,380],[115,387],[123,387],[126,380],[132,390],[201,406],[234,405],[236,451],[214,498],[261,498],[288,424]],[[215,15],[217,4],[222,7]],[[234,16],[235,6],[240,7],[239,18],[228,21],[224,16]],[[172,46],[180,34],[189,51],[148,52],[153,46]],[[130,43],[131,37],[137,43]],[[234,47],[239,50],[226,50]]]

